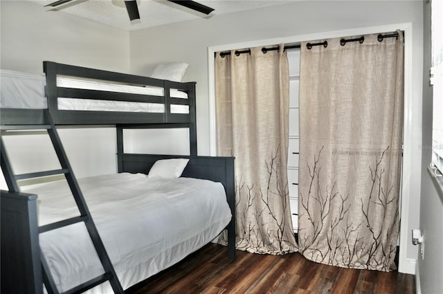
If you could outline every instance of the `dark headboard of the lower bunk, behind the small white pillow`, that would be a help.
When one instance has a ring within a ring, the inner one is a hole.
[[[219,182],[224,185],[226,199],[233,215],[228,229],[228,255],[235,257],[235,183],[234,183],[234,158],[215,156],[177,156],[156,154],[118,154],[119,172],[140,172],[147,174],[152,165],[159,159],[189,158],[189,163],[182,176],[188,178],[201,178]]]

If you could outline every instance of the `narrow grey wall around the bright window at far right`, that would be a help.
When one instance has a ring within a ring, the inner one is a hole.
[[[423,164],[420,201],[420,225],[424,235],[424,258],[419,256],[418,273],[422,293],[443,293],[443,190],[437,193],[428,172],[432,142],[432,88],[429,86],[431,68],[431,5],[424,5],[424,71],[423,71]],[[440,180],[442,181],[442,180]],[[419,247],[419,246],[417,246]]]

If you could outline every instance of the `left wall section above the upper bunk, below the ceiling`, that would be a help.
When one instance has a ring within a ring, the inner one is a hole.
[[[30,1],[0,1],[1,68],[43,73],[44,60],[129,72],[129,33]]]

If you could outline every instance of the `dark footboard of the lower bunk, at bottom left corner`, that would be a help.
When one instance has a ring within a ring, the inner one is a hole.
[[[43,293],[37,195],[1,190],[1,293]]]

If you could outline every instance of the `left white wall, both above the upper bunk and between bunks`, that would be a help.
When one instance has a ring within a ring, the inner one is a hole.
[[[44,60],[129,72],[129,33],[94,21],[73,17],[65,12],[46,12],[30,1],[0,1],[2,69],[43,74]],[[71,159],[74,173],[81,176],[115,173],[116,131],[114,127],[91,129],[62,129],[62,141]],[[28,143],[31,149],[44,150],[38,156],[12,143],[17,154],[17,172],[30,172],[53,164],[55,158],[48,150],[47,136],[37,138],[8,138]],[[33,140],[35,139],[35,140]],[[26,141],[24,141],[26,140]],[[5,189],[0,175],[0,188]]]

